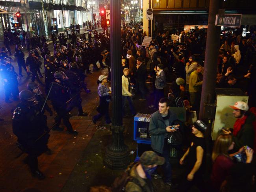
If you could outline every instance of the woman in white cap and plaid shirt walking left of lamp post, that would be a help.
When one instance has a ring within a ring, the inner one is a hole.
[[[108,76],[100,75],[98,78],[98,95],[100,96],[100,105],[97,107],[98,114],[93,116],[93,123],[96,124],[96,121],[105,116],[106,123],[110,124],[111,119],[108,113],[109,102],[111,101],[111,90],[108,88],[106,83],[108,82]]]

